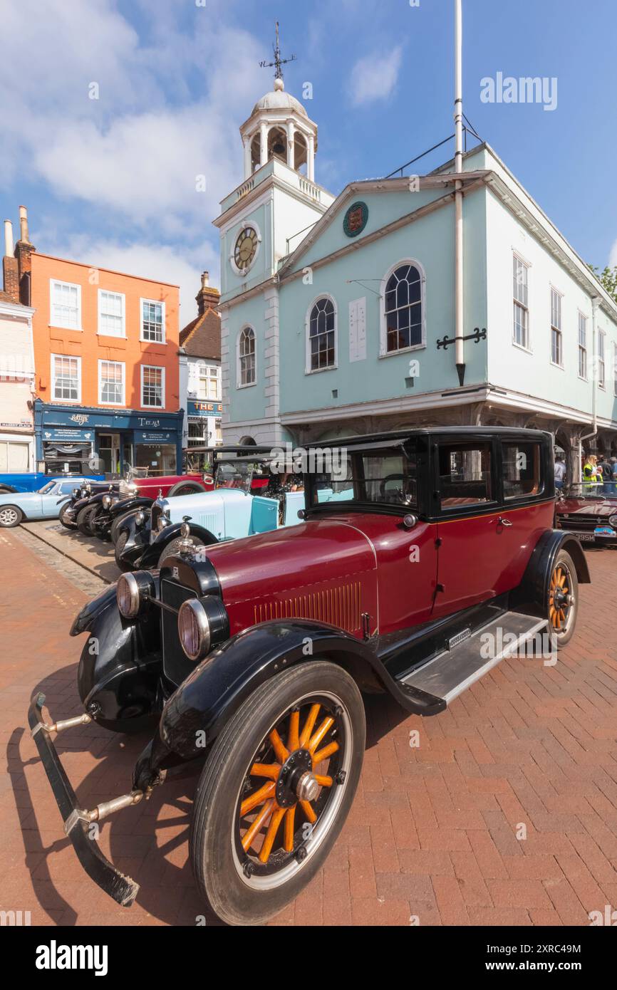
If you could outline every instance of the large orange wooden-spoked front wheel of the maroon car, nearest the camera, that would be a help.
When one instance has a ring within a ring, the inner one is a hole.
[[[197,883],[228,924],[259,924],[312,879],[354,799],[360,691],[327,660],[257,688],[210,753],[195,799]]]

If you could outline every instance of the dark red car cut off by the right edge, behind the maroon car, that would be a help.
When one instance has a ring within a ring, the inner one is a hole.
[[[613,485],[570,484],[558,492],[556,516],[561,530],[582,544],[617,544],[617,492]]]

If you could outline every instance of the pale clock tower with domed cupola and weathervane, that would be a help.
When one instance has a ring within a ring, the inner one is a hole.
[[[286,92],[274,47],[273,89],[240,128],[244,180],[221,203],[223,440],[280,440],[278,282],[281,260],[335,197],[315,182],[317,125]],[[264,63],[262,63],[264,64]],[[256,403],[257,395],[263,403]],[[251,401],[245,389],[252,389]],[[262,416],[255,421],[255,409]],[[246,413],[245,416],[245,407]],[[249,415],[251,409],[251,415]]]

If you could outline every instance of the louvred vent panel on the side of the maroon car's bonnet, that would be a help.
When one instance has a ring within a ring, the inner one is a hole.
[[[271,619],[316,619],[348,633],[361,627],[360,581],[340,584],[322,591],[272,599],[255,606],[255,622]]]

